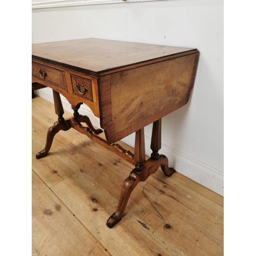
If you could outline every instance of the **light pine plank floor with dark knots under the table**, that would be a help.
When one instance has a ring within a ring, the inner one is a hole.
[[[52,103],[32,99],[32,255],[223,255],[223,197],[177,172],[140,182],[106,227],[133,165],[75,130],[37,160],[56,120]]]

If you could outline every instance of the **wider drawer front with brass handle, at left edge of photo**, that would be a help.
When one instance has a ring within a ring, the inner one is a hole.
[[[67,91],[65,74],[61,70],[32,62],[32,76]]]

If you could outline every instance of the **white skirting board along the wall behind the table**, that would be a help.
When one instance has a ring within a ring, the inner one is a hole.
[[[38,96],[53,103],[53,94],[51,89],[44,88],[35,91],[35,93]],[[68,100],[61,96],[61,101],[63,109],[70,113],[73,113],[73,110],[71,109]],[[91,119],[94,126],[100,127],[99,118],[93,115],[92,111],[88,108],[87,105],[82,104],[79,109],[79,113],[81,115],[87,115]],[[135,134],[131,134],[123,138],[122,141],[134,147]],[[145,148],[146,155],[148,156],[150,156],[152,153],[150,149],[150,144],[151,137],[145,135]],[[190,178],[191,180],[194,180],[199,184],[209,188],[210,190],[215,191],[215,193],[221,196],[224,195],[224,177],[223,173],[219,169],[216,169],[195,158],[185,155],[175,150],[174,148],[165,145],[164,143],[162,143],[162,148],[159,153],[165,155],[168,158],[169,166],[174,167],[178,173],[181,173],[184,176]]]

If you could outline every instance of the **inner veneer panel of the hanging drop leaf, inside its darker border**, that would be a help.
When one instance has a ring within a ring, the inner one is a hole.
[[[195,54],[112,74],[111,106],[115,132],[152,117],[184,100]]]

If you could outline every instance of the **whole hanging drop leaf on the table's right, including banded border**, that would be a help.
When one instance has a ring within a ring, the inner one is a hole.
[[[99,78],[100,126],[114,143],[181,108],[195,82],[199,53]]]

